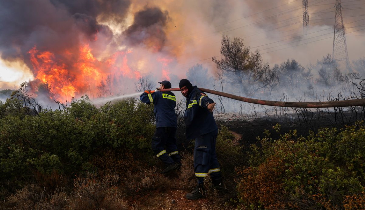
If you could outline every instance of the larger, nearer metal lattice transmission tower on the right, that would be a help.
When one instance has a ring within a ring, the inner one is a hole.
[[[333,51],[332,58],[338,63],[346,64],[350,69],[349,55],[347,54],[347,45],[345,38],[345,28],[343,27],[341,0],[336,0],[335,28],[333,34]]]

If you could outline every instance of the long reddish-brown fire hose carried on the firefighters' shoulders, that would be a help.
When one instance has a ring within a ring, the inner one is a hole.
[[[267,101],[254,98],[246,98],[242,96],[235,96],[233,94],[219,92],[215,90],[199,88],[204,93],[211,93],[217,96],[223,96],[238,101],[243,101],[251,104],[261,104],[268,106],[283,106],[283,107],[296,107],[296,108],[328,108],[328,107],[345,107],[345,106],[365,106],[365,98],[342,100],[342,101],[322,101],[322,102],[285,102],[285,101]],[[161,92],[167,91],[180,91],[179,88],[161,89]]]

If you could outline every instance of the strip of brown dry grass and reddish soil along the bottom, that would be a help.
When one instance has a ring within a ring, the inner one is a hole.
[[[74,179],[73,188],[50,190],[29,184],[8,197],[9,210],[151,210],[189,209],[197,207],[222,208],[222,199],[206,179],[207,198],[199,202],[185,199],[192,187],[196,186],[193,171],[193,154],[182,152],[180,170],[168,175],[160,174],[158,168],[146,168],[137,172],[126,172],[123,178],[94,175]],[[209,184],[208,184],[209,183]],[[177,199],[177,202],[172,200]],[[203,202],[201,202],[203,201]],[[193,208],[193,207],[192,207]],[[198,209],[199,209],[198,208]]]

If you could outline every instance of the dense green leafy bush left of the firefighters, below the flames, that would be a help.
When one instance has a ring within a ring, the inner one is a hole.
[[[120,159],[124,154],[152,154],[153,106],[134,98],[96,108],[84,97],[66,110],[37,115],[12,114],[21,106],[1,106],[7,110],[0,118],[1,182],[28,179],[34,173],[97,171],[95,159],[112,150]]]

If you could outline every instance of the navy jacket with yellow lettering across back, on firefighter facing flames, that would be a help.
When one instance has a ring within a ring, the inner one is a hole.
[[[156,91],[150,94],[142,93],[139,99],[143,103],[154,104],[153,111],[156,118],[156,128],[176,127],[176,97],[172,92]]]

